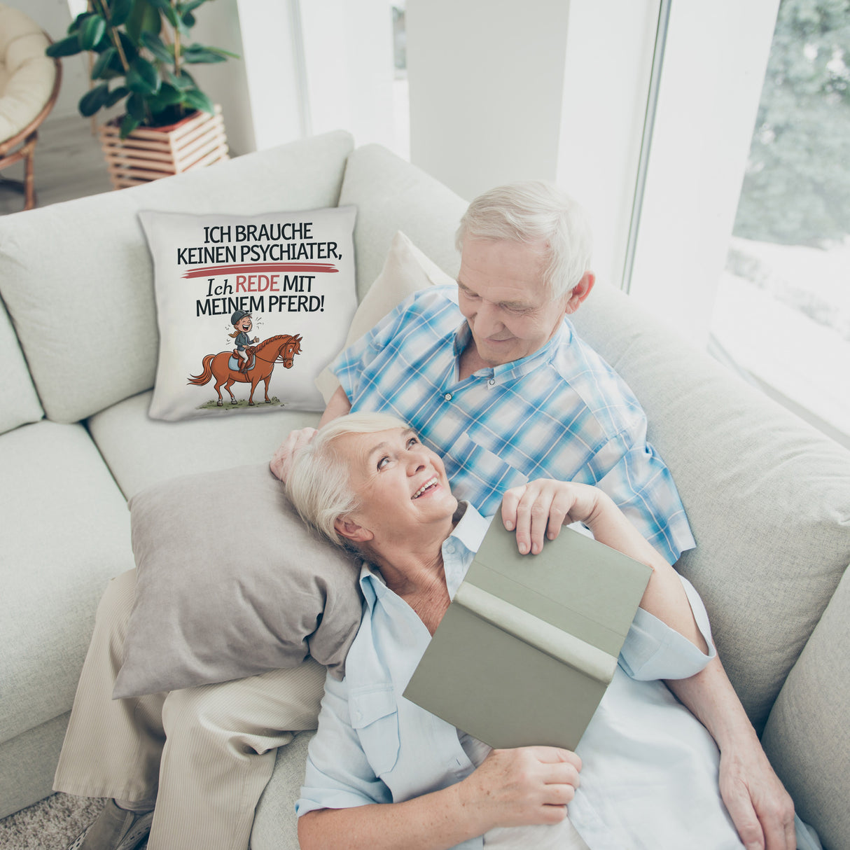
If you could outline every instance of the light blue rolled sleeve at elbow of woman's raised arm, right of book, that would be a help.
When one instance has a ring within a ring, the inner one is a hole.
[[[620,666],[633,679],[686,679],[695,676],[715,655],[717,650],[711,640],[711,626],[706,606],[694,586],[682,575],[679,576],[694,621],[708,646],[708,654],[701,652],[688,638],[667,626],[649,611],[638,608],[632,627],[626,635],[620,653]]]

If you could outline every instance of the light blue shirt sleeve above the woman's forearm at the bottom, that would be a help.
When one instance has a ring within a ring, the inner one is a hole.
[[[310,741],[307,771],[295,813],[320,808],[354,808],[392,802],[389,789],[377,778],[360,746],[348,711],[348,684],[330,675],[319,712],[319,731]]]

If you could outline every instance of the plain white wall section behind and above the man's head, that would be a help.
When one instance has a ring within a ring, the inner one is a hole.
[[[553,180],[564,0],[408,0],[411,161],[463,197]]]

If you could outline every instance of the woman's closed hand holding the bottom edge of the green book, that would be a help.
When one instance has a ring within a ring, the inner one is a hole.
[[[458,791],[464,807],[473,807],[486,829],[557,824],[567,816],[580,770],[581,758],[558,747],[493,750]]]

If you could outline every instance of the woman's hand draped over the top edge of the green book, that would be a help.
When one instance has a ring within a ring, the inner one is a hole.
[[[605,498],[589,484],[536,479],[507,490],[501,501],[501,520],[508,531],[517,530],[519,552],[536,555],[543,548],[544,536],[554,540],[562,525],[592,522]]]

